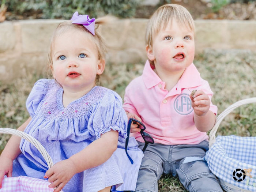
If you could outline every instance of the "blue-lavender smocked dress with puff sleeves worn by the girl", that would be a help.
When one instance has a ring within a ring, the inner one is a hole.
[[[75,174],[63,191],[96,192],[108,186],[113,186],[112,191],[135,190],[143,153],[135,138],[130,138],[128,145],[133,164],[125,153],[127,116],[121,97],[105,87],[95,86],[64,108],[62,96],[63,89],[54,79],[41,79],[27,99],[32,120],[24,132],[44,146],[54,164],[83,150],[111,129],[119,132],[118,147],[110,159]],[[22,153],[14,160],[12,176],[44,179],[48,166],[39,151],[24,139],[20,150]]]

